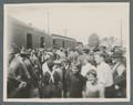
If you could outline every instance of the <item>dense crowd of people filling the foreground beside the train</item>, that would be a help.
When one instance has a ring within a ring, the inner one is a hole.
[[[125,53],[121,46],[13,48],[8,98],[126,97]]]

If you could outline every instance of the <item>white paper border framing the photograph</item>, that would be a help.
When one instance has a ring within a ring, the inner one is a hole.
[[[127,57],[126,57],[126,98],[7,98],[7,12],[6,8],[8,6],[12,7],[18,7],[18,6],[45,6],[45,4],[125,4],[129,8],[129,35],[127,35]],[[4,23],[3,23],[3,102],[34,102],[34,103],[69,103],[69,102],[93,102],[93,103],[99,103],[99,102],[130,102],[131,99],[131,62],[130,62],[130,2],[89,2],[89,3],[81,3],[81,2],[72,2],[72,3],[20,3],[20,4],[4,4]]]

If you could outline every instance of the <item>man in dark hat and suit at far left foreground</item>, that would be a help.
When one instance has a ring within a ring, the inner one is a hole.
[[[13,60],[9,65],[8,97],[10,98],[29,97],[29,93],[25,91],[25,88],[31,76],[23,62],[25,55],[25,53],[16,53]]]

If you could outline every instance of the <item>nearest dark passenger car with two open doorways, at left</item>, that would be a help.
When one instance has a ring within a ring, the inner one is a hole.
[[[52,48],[52,36],[48,35],[42,30],[30,24],[25,24],[11,17],[8,17],[7,19],[7,27],[9,46],[13,44],[18,48],[25,46],[28,49],[33,49],[45,44],[45,48]]]

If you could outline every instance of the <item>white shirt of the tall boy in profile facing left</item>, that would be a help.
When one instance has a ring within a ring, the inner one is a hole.
[[[105,87],[113,85],[113,72],[110,65],[102,62],[96,69],[98,82],[104,84]]]

